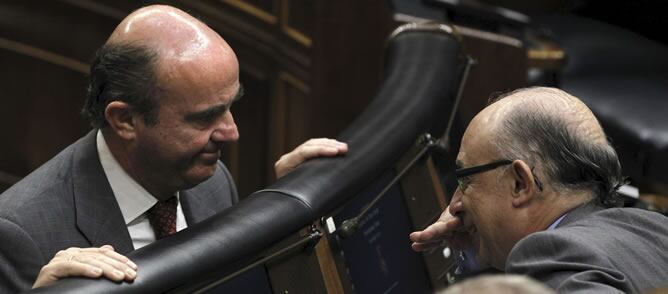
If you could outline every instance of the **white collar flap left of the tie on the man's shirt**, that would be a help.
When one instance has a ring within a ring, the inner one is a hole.
[[[148,211],[158,200],[144,187],[135,181],[116,161],[109,150],[102,131],[97,131],[97,152],[102,169],[114,192],[118,206],[121,208],[125,224],[140,217]]]

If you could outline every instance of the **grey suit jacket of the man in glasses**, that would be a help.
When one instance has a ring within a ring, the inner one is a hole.
[[[668,217],[635,208],[580,206],[554,230],[513,247],[506,272],[561,293],[637,293],[668,285]]]

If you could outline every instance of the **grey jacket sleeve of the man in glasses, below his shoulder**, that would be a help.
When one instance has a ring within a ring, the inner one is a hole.
[[[521,240],[508,256],[506,272],[531,276],[559,293],[633,292],[624,273],[611,264],[609,253],[591,235],[554,232]]]

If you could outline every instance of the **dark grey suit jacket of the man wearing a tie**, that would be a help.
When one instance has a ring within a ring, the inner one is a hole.
[[[134,250],[121,210],[102,170],[96,132],[67,147],[0,195],[0,293],[32,286],[42,266],[69,247]],[[189,226],[238,201],[219,162],[216,173],[181,191]]]

